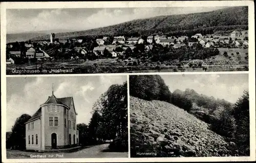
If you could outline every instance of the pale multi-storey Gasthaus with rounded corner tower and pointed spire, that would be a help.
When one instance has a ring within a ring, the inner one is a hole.
[[[73,97],[56,98],[52,92],[25,123],[26,149],[43,151],[77,146],[76,115]]]

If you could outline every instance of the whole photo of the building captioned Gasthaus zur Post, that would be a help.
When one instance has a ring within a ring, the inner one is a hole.
[[[127,76],[7,78],[7,158],[128,157]]]

